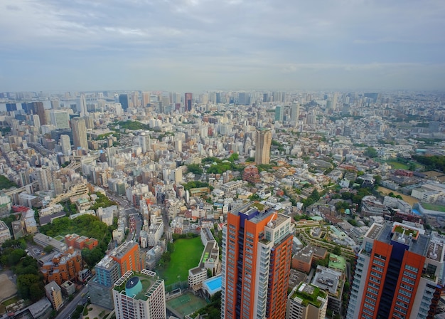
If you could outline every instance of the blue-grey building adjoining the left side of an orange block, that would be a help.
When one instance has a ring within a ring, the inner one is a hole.
[[[105,256],[95,266],[96,275],[90,280],[90,300],[93,305],[113,309],[114,283],[122,276],[119,263]]]

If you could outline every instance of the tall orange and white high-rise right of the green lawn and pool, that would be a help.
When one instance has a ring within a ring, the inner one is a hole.
[[[221,318],[284,318],[291,218],[247,204],[223,226]]]

